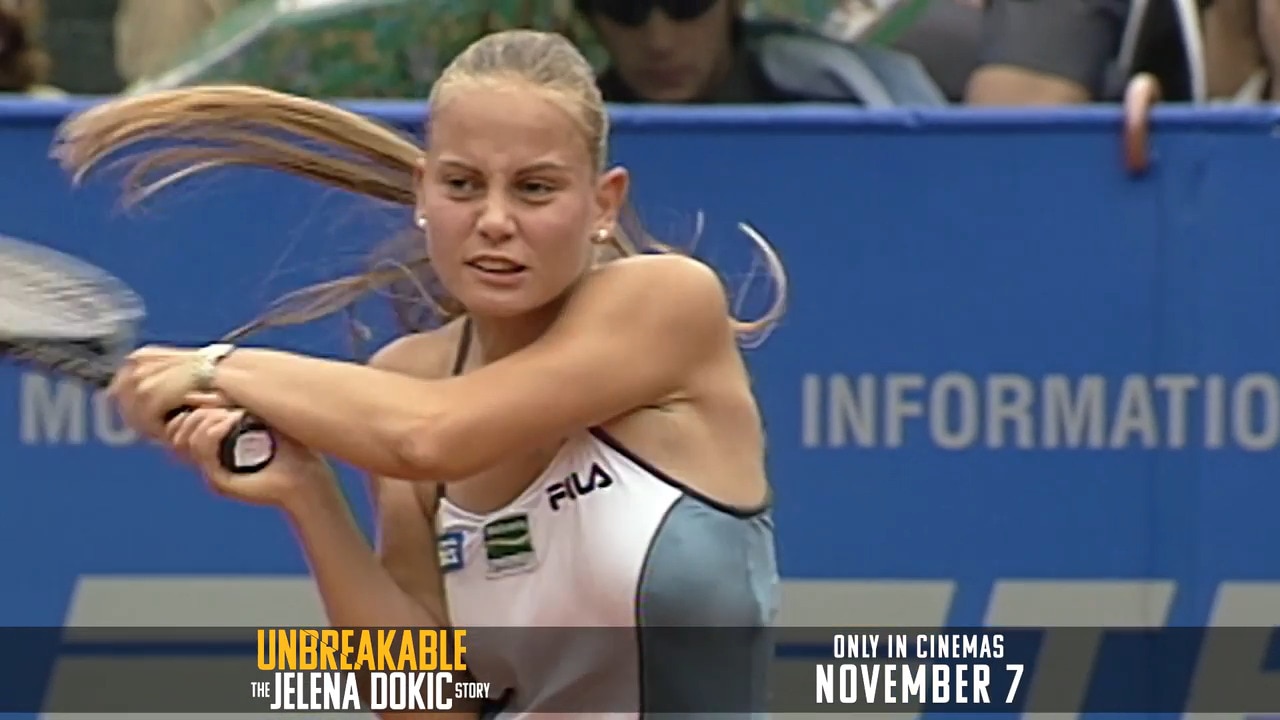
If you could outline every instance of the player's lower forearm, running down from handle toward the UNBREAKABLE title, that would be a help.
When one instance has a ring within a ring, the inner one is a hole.
[[[440,628],[443,607],[404,592],[374,555],[337,482],[314,483],[285,514],[306,553],[325,614],[339,628]]]

